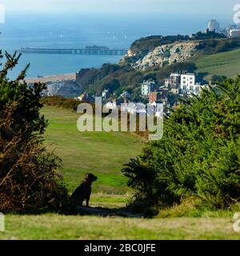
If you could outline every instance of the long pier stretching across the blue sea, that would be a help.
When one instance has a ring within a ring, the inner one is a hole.
[[[54,48],[21,48],[24,54],[85,54],[85,55],[124,55],[126,49],[109,49],[104,46],[86,46],[84,49],[54,49]]]

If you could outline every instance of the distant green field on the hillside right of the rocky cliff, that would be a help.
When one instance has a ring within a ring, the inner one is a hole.
[[[193,61],[198,66],[199,73],[225,75],[229,78],[240,74],[240,49],[193,58]]]

